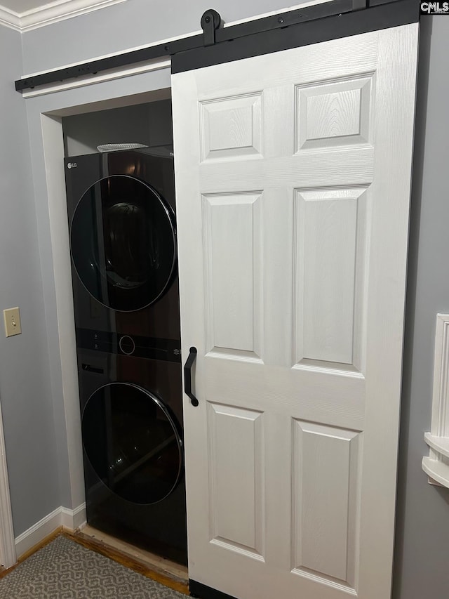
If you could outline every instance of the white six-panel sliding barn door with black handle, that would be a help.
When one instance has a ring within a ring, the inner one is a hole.
[[[418,25],[173,75],[189,577],[387,599]]]

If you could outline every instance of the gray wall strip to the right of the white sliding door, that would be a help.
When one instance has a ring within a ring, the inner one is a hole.
[[[423,17],[403,367],[394,599],[449,597],[449,489],[427,483],[434,334],[449,312],[449,20]]]

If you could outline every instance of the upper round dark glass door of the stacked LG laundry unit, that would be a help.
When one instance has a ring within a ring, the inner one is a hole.
[[[151,185],[100,179],[79,200],[70,247],[84,287],[100,303],[133,311],[158,300],[176,265],[175,214]]]

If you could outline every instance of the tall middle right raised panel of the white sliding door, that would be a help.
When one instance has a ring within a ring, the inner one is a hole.
[[[366,329],[367,193],[295,195],[295,364],[361,369]]]

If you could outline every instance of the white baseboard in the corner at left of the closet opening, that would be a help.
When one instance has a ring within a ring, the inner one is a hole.
[[[86,503],[81,503],[74,510],[60,506],[46,515],[42,520],[36,522],[32,527],[19,534],[15,538],[15,551],[18,558],[29,549],[39,544],[49,534],[55,532],[61,526],[75,530],[86,522]]]

